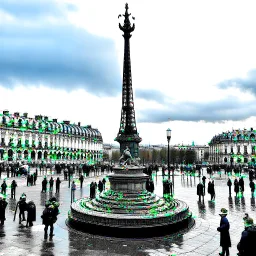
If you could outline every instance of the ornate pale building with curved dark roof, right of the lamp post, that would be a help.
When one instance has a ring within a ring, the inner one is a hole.
[[[210,143],[212,164],[255,164],[256,130],[233,130],[215,135]]]

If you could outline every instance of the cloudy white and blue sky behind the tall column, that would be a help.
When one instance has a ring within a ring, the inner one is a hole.
[[[0,110],[91,124],[114,143],[123,0],[0,0]],[[256,128],[256,2],[130,0],[142,144]]]

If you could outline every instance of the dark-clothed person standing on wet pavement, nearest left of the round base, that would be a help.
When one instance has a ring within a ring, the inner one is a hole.
[[[45,207],[43,214],[41,216],[43,219],[43,225],[44,227],[44,239],[47,239],[48,237],[48,227],[50,226],[50,239],[54,236],[53,234],[53,224],[57,221],[57,216],[54,211],[54,205],[49,204],[48,206]]]

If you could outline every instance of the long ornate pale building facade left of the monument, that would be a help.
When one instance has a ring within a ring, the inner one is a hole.
[[[101,133],[90,125],[7,110],[0,114],[0,160],[95,164],[102,155]]]

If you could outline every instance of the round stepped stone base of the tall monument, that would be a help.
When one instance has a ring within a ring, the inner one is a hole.
[[[71,204],[69,224],[116,237],[155,237],[190,228],[194,222],[187,204],[147,192],[147,179],[142,167],[114,168],[110,190]]]

